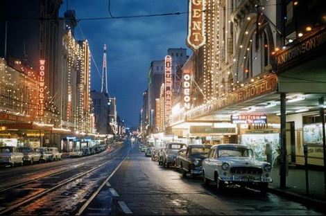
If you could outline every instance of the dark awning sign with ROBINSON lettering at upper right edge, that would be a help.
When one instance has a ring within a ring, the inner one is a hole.
[[[285,51],[277,53],[276,63],[277,71],[284,69],[289,64],[294,64],[295,62],[302,60],[302,57],[309,56],[315,53],[317,49],[322,50],[322,46],[325,46],[326,42],[326,30],[319,30],[314,35],[303,39],[302,42],[294,44]]]

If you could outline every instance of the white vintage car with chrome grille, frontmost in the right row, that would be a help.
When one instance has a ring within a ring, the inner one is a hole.
[[[271,179],[271,164],[257,161],[250,147],[239,144],[214,145],[203,161],[205,184],[216,183],[221,191],[225,186],[237,184],[266,192]]]

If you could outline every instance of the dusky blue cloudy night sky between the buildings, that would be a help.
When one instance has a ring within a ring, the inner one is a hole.
[[[187,0],[112,0],[114,17],[187,12]],[[69,1],[77,19],[110,17],[108,0]],[[67,10],[61,6],[60,16]],[[83,33],[82,33],[83,32]],[[169,17],[81,20],[76,39],[86,38],[102,73],[103,44],[108,47],[108,88],[117,98],[119,116],[128,127],[137,127],[142,93],[147,87],[147,74],[152,60],[164,59],[168,48],[185,48],[187,14]],[[190,51],[188,50],[188,55]],[[101,75],[92,62],[91,87],[101,91]]]

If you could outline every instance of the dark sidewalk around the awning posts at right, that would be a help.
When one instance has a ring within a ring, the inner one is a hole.
[[[309,195],[306,194],[305,171],[301,168],[289,167],[289,173],[286,176],[286,188],[280,189],[280,170],[273,168],[273,183],[270,183],[271,192],[289,199],[295,199],[302,204],[323,207],[326,206],[324,172],[318,170],[309,170]]]

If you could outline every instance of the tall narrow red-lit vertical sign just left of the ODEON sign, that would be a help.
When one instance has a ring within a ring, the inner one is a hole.
[[[172,107],[172,73],[171,73],[172,58],[170,55],[165,57],[165,121],[169,122]]]

